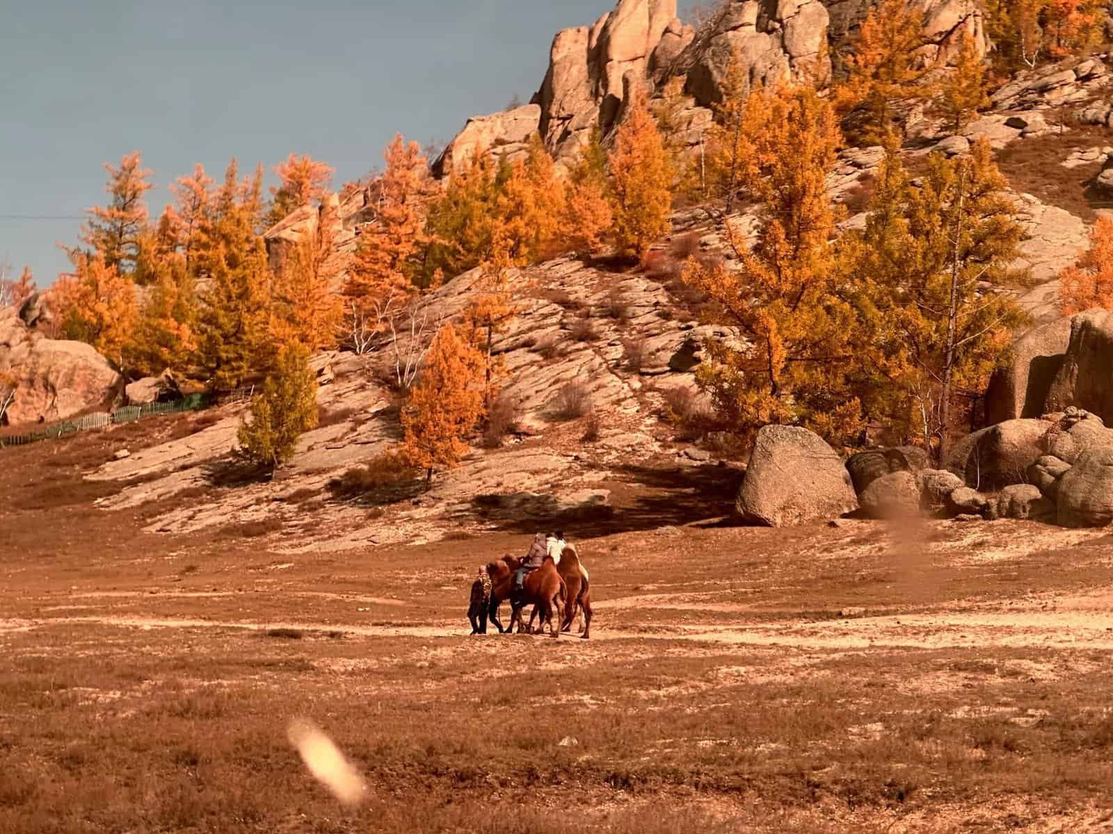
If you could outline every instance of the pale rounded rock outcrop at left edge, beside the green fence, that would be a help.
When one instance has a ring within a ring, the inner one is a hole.
[[[8,425],[48,423],[111,404],[120,376],[80,341],[47,339],[28,329],[14,308],[0,309],[0,375],[14,381]]]

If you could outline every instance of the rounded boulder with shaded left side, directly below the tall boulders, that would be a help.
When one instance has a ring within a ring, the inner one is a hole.
[[[1047,420],[1006,420],[959,440],[946,468],[977,489],[1002,489],[1027,479],[1028,467],[1046,454]]]

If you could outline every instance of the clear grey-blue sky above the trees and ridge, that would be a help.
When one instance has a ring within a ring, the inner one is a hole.
[[[402,131],[450,139],[528,101],[556,30],[614,0],[0,0],[0,260],[66,267],[101,165],[141,150],[158,186],[309,153],[336,182]],[[30,216],[22,219],[11,216]],[[41,219],[51,218],[51,219]],[[52,219],[61,218],[61,219]]]

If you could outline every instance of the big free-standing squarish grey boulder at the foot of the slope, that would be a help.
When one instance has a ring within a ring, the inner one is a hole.
[[[738,514],[769,527],[829,520],[858,508],[850,474],[818,435],[796,426],[758,431]]]

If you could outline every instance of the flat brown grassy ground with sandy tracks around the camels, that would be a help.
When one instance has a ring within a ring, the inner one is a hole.
[[[1103,530],[678,524],[678,494],[569,527],[591,641],[470,636],[475,569],[526,522],[297,555],[160,536],[165,507],[75,479],[107,448],[0,461],[0,831],[1113,831]]]

